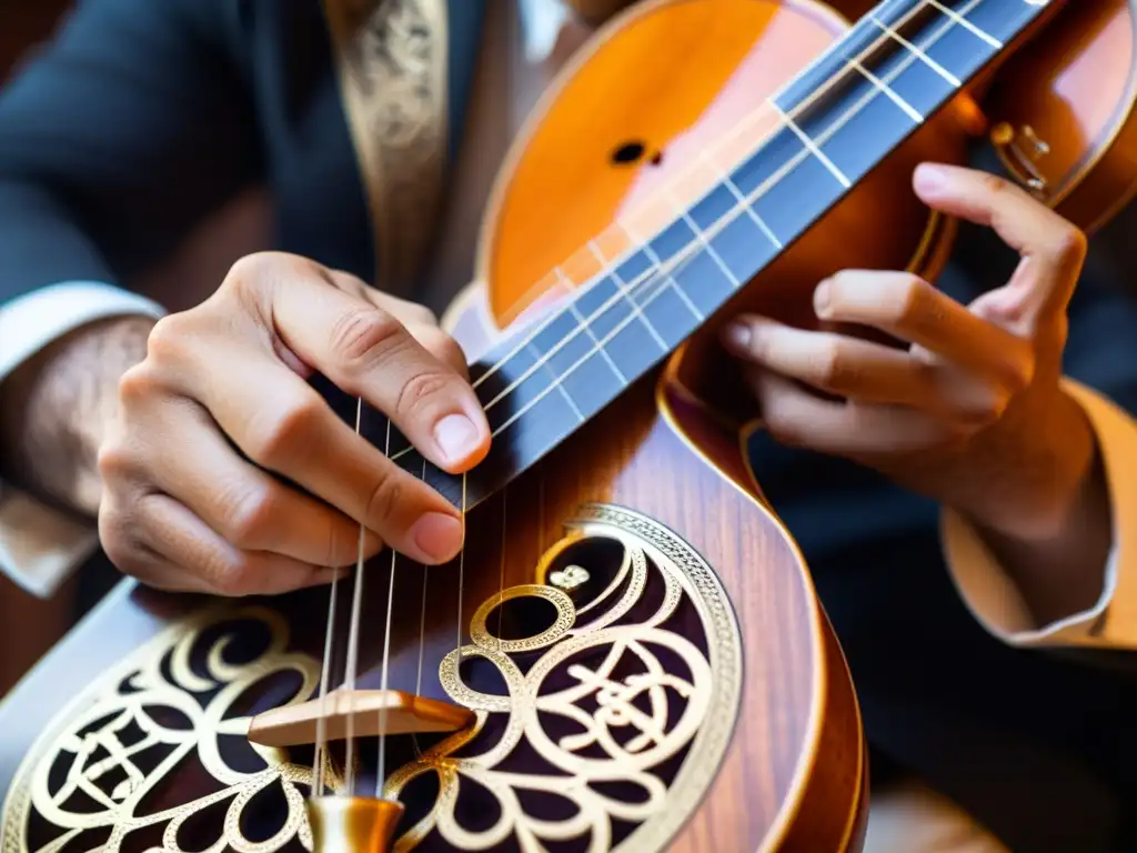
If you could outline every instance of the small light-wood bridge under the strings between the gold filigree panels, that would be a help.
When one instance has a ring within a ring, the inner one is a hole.
[[[323,718],[324,730],[319,732]],[[470,709],[416,696],[402,690],[332,690],[324,698],[285,705],[257,714],[249,723],[249,740],[283,747],[315,744],[321,734],[329,742],[379,735],[418,735],[458,731],[474,721]]]

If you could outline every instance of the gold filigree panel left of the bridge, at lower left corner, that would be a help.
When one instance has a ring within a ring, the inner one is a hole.
[[[264,629],[263,651],[248,662],[226,660],[238,627],[247,630],[250,622]],[[279,613],[224,608],[179,623],[105,673],[44,730],[17,772],[5,802],[3,853],[32,850],[33,814],[39,825],[55,830],[38,853],[55,853],[92,830],[109,830],[100,850],[117,851],[127,835],[156,825],[164,827],[161,848],[181,853],[183,825],[226,801],[209,851],[268,853],[293,839],[310,850],[306,792],[300,789],[310,787],[312,768],[289,763],[282,751],[249,744],[263,767],[238,769],[221,744],[226,735],[243,737],[249,718],[232,715],[234,705],[265,679],[298,674],[300,686],[291,702],[306,699],[316,688],[318,662],[289,652],[288,639],[288,623]],[[180,724],[171,724],[174,720]],[[140,760],[152,751],[161,757],[144,768]],[[147,798],[160,794],[161,784],[194,760],[213,790],[149,811]],[[332,786],[339,787],[339,781],[333,775]],[[272,837],[250,839],[241,829],[242,814],[274,785],[283,793],[287,813]]]

